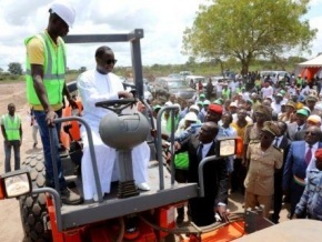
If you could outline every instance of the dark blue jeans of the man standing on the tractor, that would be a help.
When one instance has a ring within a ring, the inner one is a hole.
[[[61,110],[57,111],[58,117],[61,117]],[[56,148],[56,157],[54,160],[52,160],[52,153],[50,148],[50,138],[49,138],[49,127],[46,121],[46,112],[44,111],[37,111],[34,110],[34,118],[37,120],[39,131],[40,131],[40,138],[42,142],[42,149],[44,154],[44,167],[46,167],[46,184],[48,186],[54,188],[54,174],[53,174],[53,162],[57,164],[57,171],[58,171],[58,179],[59,179],[59,186],[60,190],[64,190],[67,188],[66,180],[62,174],[62,164],[61,159],[58,152],[59,148],[59,141],[58,141],[58,131],[61,127],[61,124],[56,124],[56,130],[52,132],[53,134],[53,145]]]

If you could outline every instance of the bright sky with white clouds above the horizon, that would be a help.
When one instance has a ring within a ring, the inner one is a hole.
[[[69,34],[129,33],[143,29],[141,39],[142,64],[181,64],[189,59],[182,56],[182,34],[191,28],[198,7],[207,0],[69,0],[77,17]],[[264,1],[264,0],[263,0]],[[24,69],[27,37],[41,32],[48,24],[48,9],[52,0],[0,0],[0,68],[19,62]],[[322,0],[311,0],[310,11],[304,19],[311,28],[319,29],[312,41],[313,58],[322,52]],[[286,11],[285,11],[286,13]],[[115,53],[118,65],[131,65],[130,44],[91,43],[68,44],[68,67],[79,69],[95,65],[94,52],[107,44]]]

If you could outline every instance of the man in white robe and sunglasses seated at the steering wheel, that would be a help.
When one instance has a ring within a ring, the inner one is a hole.
[[[95,107],[97,102],[132,98],[132,93],[124,91],[123,84],[118,75],[113,74],[114,59],[113,51],[108,47],[100,47],[95,52],[97,68],[83,72],[78,78],[78,90],[83,104],[82,118],[91,127],[94,151],[98,163],[99,178],[102,193],[110,192],[112,177],[118,178],[115,163],[117,152],[105,145],[99,134],[99,124],[104,115],[112,111]],[[83,140],[82,157],[82,183],[84,200],[97,198],[92,161],[89,151],[89,142],[85,129],[81,129]],[[147,184],[147,168],[150,160],[150,148],[143,142],[132,150],[133,177],[135,184],[141,190],[150,190]],[[114,170],[114,174],[113,174]]]

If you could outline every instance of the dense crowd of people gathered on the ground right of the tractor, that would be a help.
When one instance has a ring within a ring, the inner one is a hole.
[[[193,219],[194,212],[213,218],[219,202],[227,204],[228,194],[233,192],[244,195],[245,209],[262,205],[264,216],[274,223],[279,223],[283,202],[290,204],[290,219],[321,220],[322,208],[319,208],[318,202],[321,198],[321,181],[318,181],[321,172],[315,164],[322,151],[320,80],[305,80],[301,75],[279,78],[250,73],[220,84],[221,92],[217,92],[217,95],[207,91],[208,83],[205,89],[197,89],[191,100],[179,100],[170,94],[165,103],[159,100],[152,102],[154,117],[164,105],[178,107],[174,113],[165,111],[161,119],[161,133],[167,134],[162,137],[168,141],[171,137],[171,118],[174,119],[178,182],[198,182],[198,174],[193,172],[197,172],[201,158],[212,153],[209,147],[217,138],[240,137],[243,140],[242,154],[223,159],[227,165],[221,171],[227,177],[213,175],[219,168],[207,169],[213,172],[212,177],[205,178],[207,189],[211,183],[218,186],[208,190],[201,203],[195,203],[194,199],[189,201],[192,220],[197,224],[209,224],[211,220]],[[209,125],[209,122],[217,125],[217,132],[213,131],[213,139],[204,143],[204,125]],[[200,147],[204,149],[205,145],[207,151],[199,158]],[[189,153],[191,150],[192,154]],[[314,189],[312,184],[305,189],[309,184],[306,181],[313,174]],[[183,210],[179,208],[177,222],[182,221]]]

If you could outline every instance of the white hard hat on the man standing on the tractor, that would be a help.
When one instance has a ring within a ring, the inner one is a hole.
[[[70,28],[76,18],[76,11],[67,1],[54,1],[50,6],[51,13],[58,14]]]

